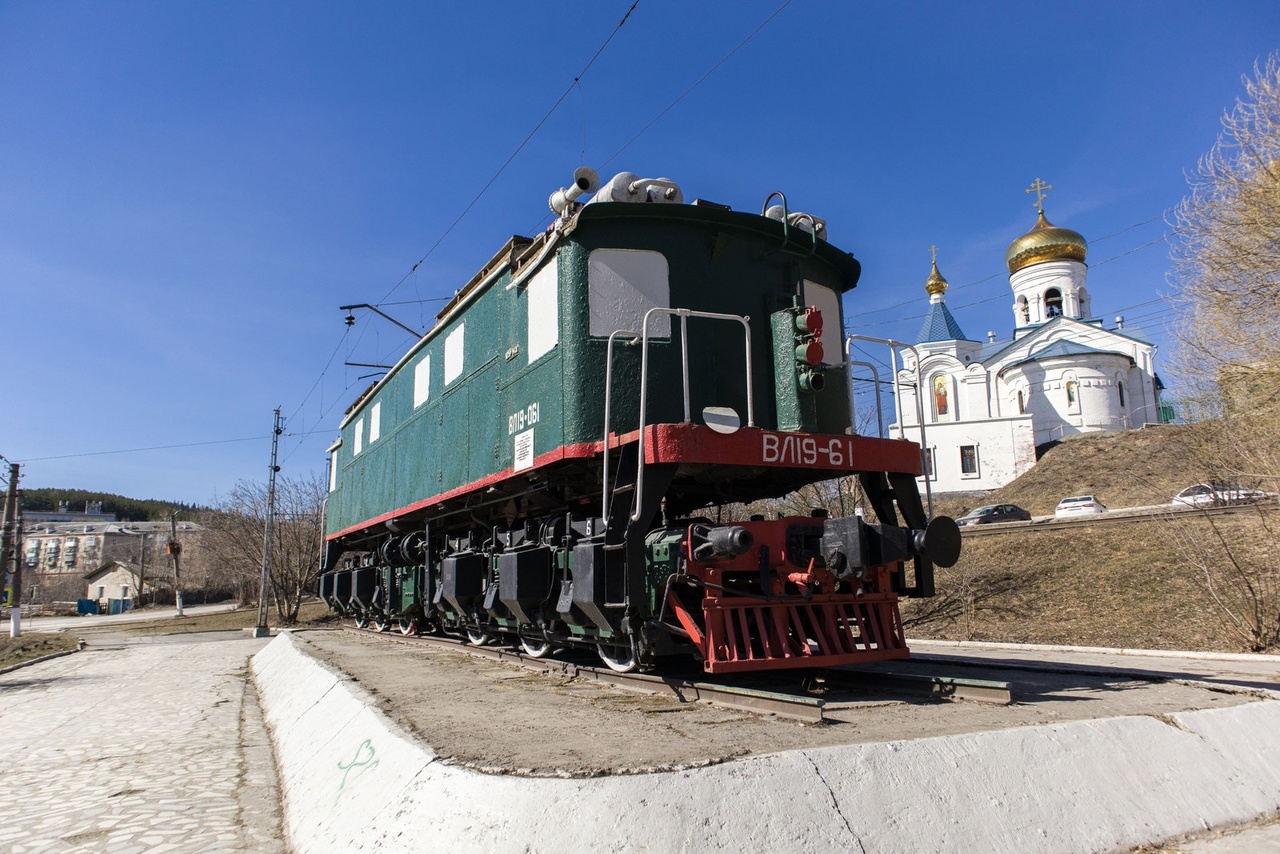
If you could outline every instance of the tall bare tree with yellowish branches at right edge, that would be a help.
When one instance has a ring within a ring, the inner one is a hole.
[[[1204,480],[1280,490],[1280,54],[1254,64],[1244,96],[1172,214],[1180,320],[1175,365],[1202,419]],[[1174,542],[1229,631],[1249,649],[1280,641],[1275,501],[1225,529],[1170,520]]]

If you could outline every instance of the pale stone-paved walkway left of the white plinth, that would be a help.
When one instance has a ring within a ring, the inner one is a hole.
[[[0,851],[283,853],[242,632],[97,635],[0,676]]]

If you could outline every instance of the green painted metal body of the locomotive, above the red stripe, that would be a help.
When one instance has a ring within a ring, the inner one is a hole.
[[[755,423],[780,423],[774,389],[774,342],[769,316],[791,306],[808,280],[841,294],[854,286],[858,264],[819,241],[812,255],[801,234],[783,246],[782,227],[760,216],[689,205],[588,205],[554,251],[558,268],[557,344],[532,364],[529,291],[508,288],[499,269],[466,294],[371,393],[353,407],[337,447],[335,488],[329,494],[326,533],[351,533],[406,512],[430,515],[431,501],[483,490],[518,476],[516,440],[532,431],[532,455],[562,446],[599,443],[604,421],[607,344],[591,337],[589,266],[593,250],[648,250],[666,257],[673,307],[748,315],[754,360]],[[841,318],[826,324],[841,328]],[[465,324],[462,373],[444,383],[445,342]],[[680,324],[650,344],[646,421],[682,421]],[[415,406],[417,365],[430,359],[428,399]],[[838,360],[838,355],[828,359]],[[746,370],[741,324],[689,321],[692,420],[705,406],[728,406],[746,423]],[[835,373],[832,376],[838,378]],[[613,423],[620,433],[639,424],[640,347],[616,348]],[[828,382],[814,407],[813,430],[845,433],[849,401],[844,382]],[[380,405],[376,439],[369,439]],[[362,429],[357,447],[356,429]],[[541,463],[539,463],[541,465]]]

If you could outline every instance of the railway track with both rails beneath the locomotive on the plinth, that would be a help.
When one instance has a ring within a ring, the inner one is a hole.
[[[639,690],[649,694],[672,695],[681,703],[712,703],[722,708],[774,714],[777,717],[822,723],[823,711],[838,700],[828,697],[814,697],[813,693],[844,693],[854,699],[856,693],[872,689],[933,700],[970,700],[980,703],[1009,704],[1012,702],[1009,682],[993,682],[952,676],[933,676],[918,673],[899,673],[883,670],[829,668],[819,671],[773,671],[767,675],[754,675],[753,681],[772,681],[777,690],[759,685],[735,685],[727,681],[704,681],[684,676],[659,676],[654,673],[620,673],[607,667],[594,667],[558,658],[534,658],[509,647],[476,647],[474,644],[435,635],[401,635],[380,632],[372,629],[343,626],[344,631],[360,635],[372,635],[388,643],[417,644],[448,649],[479,658],[500,661],[531,671],[582,679],[589,681]],[[782,673],[790,680],[780,677]]]

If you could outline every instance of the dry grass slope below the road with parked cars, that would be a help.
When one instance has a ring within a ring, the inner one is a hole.
[[[1230,538],[1256,536],[1257,513],[1219,516]],[[1133,649],[1243,652],[1199,571],[1175,551],[1170,526],[1207,528],[1180,513],[1070,530],[1016,528],[966,536],[960,562],[938,570],[938,597],[904,602],[908,634],[947,640]],[[929,612],[941,611],[931,615]]]

